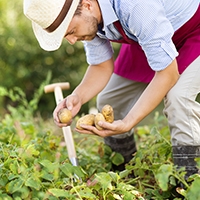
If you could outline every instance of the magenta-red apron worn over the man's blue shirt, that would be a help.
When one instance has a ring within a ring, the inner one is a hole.
[[[114,25],[123,36],[122,40],[111,40],[123,43],[115,61],[114,73],[149,83],[155,72],[150,68],[141,46],[127,37],[119,21]],[[181,74],[200,55],[200,6],[193,17],[174,33],[172,40],[179,52],[176,59]]]

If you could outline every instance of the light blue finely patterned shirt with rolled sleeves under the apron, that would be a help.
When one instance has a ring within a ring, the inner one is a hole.
[[[122,37],[113,25],[119,20],[126,35],[141,45],[150,67],[159,71],[178,55],[171,38],[193,16],[200,0],[98,0],[98,3],[104,27],[92,41],[83,42],[87,62],[96,65],[112,57],[109,39]]]

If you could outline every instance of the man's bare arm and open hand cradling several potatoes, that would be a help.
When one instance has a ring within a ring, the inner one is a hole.
[[[136,126],[153,109],[158,106],[168,91],[176,84],[179,78],[179,72],[176,60],[167,68],[156,72],[151,83],[140,96],[136,104],[132,107],[126,117],[113,123],[99,122],[105,130],[99,131],[95,127],[83,125],[85,129],[81,133],[96,134],[101,137],[125,133]]]

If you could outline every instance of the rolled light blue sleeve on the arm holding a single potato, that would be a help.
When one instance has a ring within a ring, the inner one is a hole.
[[[113,56],[113,48],[109,40],[96,36],[92,41],[83,41],[88,64],[97,65]]]

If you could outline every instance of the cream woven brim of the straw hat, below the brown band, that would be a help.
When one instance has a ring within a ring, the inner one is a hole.
[[[55,51],[59,49],[63,38],[66,34],[68,26],[74,16],[74,13],[79,4],[79,0],[73,0],[72,5],[59,27],[52,33],[47,32],[41,26],[32,22],[34,34],[40,44],[40,47],[46,51]]]

